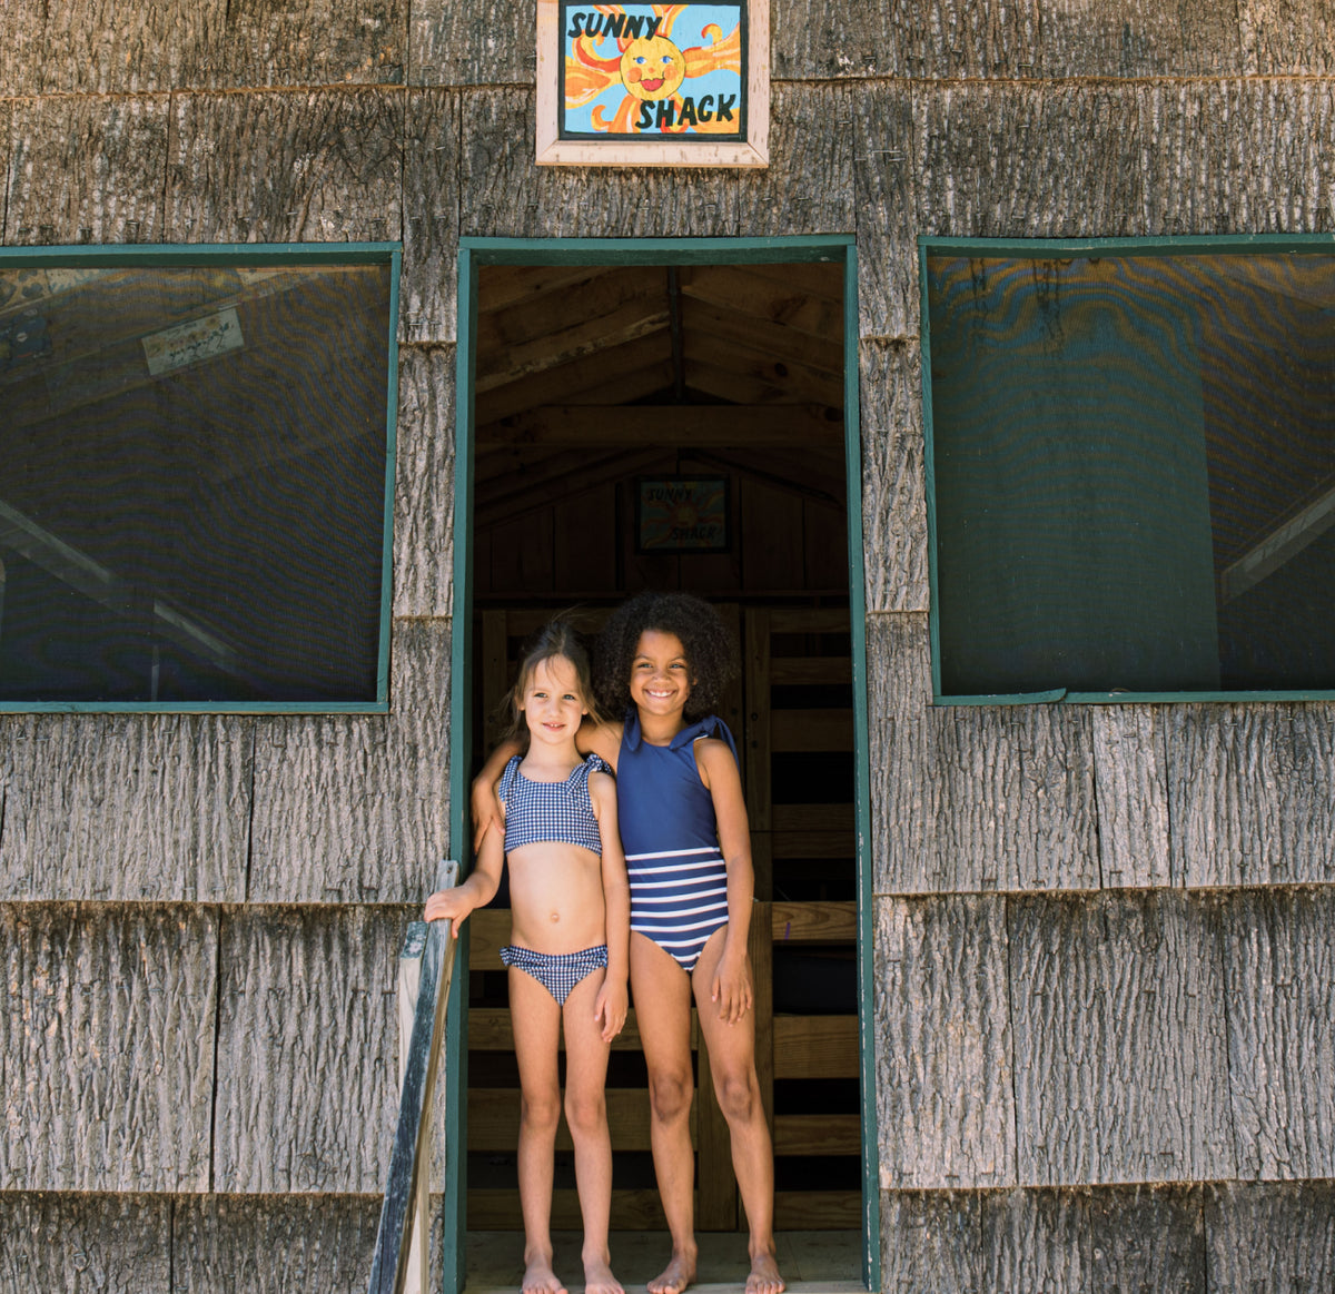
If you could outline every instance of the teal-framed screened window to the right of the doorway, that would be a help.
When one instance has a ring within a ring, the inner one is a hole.
[[[922,243],[937,697],[1335,689],[1335,250]]]

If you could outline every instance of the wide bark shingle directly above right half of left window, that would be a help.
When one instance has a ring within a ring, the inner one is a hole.
[[[178,95],[167,239],[355,242],[402,232],[403,95]]]

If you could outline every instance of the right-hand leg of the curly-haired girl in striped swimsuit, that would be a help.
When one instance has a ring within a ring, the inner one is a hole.
[[[774,1258],[774,1151],[756,1078],[756,1015],[748,1011],[738,1023],[728,1024],[718,1018],[718,1004],[709,1000],[726,933],[726,927],[714,931],[696,963],[696,1008],[718,1107],[728,1119],[733,1171],[750,1229],[746,1294],[780,1294],[784,1278]]]

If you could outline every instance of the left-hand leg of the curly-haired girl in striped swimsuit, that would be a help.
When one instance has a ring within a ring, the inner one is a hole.
[[[696,1279],[696,1159],[690,1146],[690,978],[651,939],[630,935],[630,991],[649,1067],[649,1136],[672,1234],[672,1259],[649,1294],[682,1294]]]

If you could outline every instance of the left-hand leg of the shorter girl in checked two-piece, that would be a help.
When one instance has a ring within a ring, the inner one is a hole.
[[[561,1007],[531,975],[510,967],[510,1023],[519,1063],[519,1209],[523,1294],[566,1294],[551,1270],[551,1176],[561,1120],[557,1044]]]

